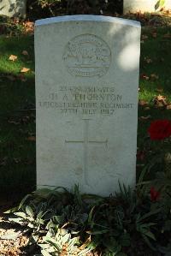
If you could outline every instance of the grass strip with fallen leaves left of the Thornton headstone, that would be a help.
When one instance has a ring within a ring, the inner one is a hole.
[[[35,188],[36,179],[35,111],[27,110],[35,105],[33,37],[1,37],[0,49],[0,188],[23,195]],[[15,62],[9,61],[11,54],[18,57]],[[21,74],[23,67],[31,71]]]

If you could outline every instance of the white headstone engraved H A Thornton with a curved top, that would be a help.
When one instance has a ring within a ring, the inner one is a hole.
[[[135,184],[140,25],[75,15],[35,26],[38,188]]]

